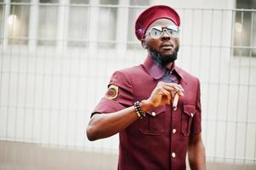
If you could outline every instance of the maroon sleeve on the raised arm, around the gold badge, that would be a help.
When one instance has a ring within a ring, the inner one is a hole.
[[[112,113],[134,105],[133,86],[125,71],[116,71],[111,76],[108,87],[111,85],[118,87],[117,97],[115,99],[103,97],[94,109],[92,115],[95,112]]]

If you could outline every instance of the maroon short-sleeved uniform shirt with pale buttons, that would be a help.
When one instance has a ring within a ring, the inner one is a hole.
[[[150,57],[143,65],[116,71],[109,86],[118,87],[117,97],[101,99],[94,113],[120,111],[135,101],[148,99],[157,82],[166,81],[165,72]],[[119,133],[118,169],[185,169],[189,135],[201,133],[200,83],[175,65],[168,74],[184,88],[185,95],[179,98],[176,111],[170,105],[147,111],[145,118]]]

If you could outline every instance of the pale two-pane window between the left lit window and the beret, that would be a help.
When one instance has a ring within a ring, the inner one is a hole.
[[[81,6],[80,4],[88,4],[89,1],[71,0],[70,19],[68,29],[68,46],[87,46],[89,35],[97,35],[97,40],[100,47],[114,47],[113,41],[116,40],[116,25],[117,25],[117,8],[108,7],[107,5],[117,5],[118,0],[100,0],[100,4],[104,6],[99,7],[97,14],[99,17],[90,18],[91,12],[95,6]],[[98,8],[96,6],[96,8]],[[94,11],[95,12],[95,11]],[[92,20],[97,21],[97,29],[92,29],[89,26]],[[95,36],[96,37],[96,36]]]

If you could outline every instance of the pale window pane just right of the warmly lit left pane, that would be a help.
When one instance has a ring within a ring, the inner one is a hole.
[[[57,37],[58,7],[41,5],[38,15],[38,44],[54,45]]]

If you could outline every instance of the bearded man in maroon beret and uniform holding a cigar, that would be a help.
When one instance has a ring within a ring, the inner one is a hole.
[[[89,140],[119,133],[120,170],[183,170],[187,151],[191,169],[205,169],[200,84],[174,65],[179,25],[168,6],[139,15],[135,34],[148,52],[145,63],[116,71],[92,113]]]

